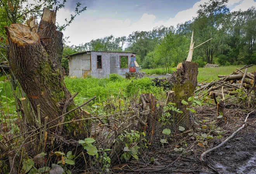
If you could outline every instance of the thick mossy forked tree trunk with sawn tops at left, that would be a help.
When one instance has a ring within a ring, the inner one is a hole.
[[[38,113],[37,105],[40,105],[42,122],[45,117],[48,117],[49,122],[62,115],[64,104],[71,98],[64,84],[61,68],[63,34],[56,30],[55,17],[54,11],[44,8],[37,32],[22,24],[5,27],[10,67],[35,114]],[[67,106],[67,111],[73,108],[75,104],[72,100]],[[65,121],[85,117],[86,113],[76,110],[66,115]],[[58,123],[59,120],[52,125]],[[83,139],[90,135],[90,126],[88,120],[72,122],[64,126],[63,133],[72,139]]]

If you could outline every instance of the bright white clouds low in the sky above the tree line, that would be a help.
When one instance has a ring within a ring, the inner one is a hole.
[[[192,8],[178,12],[175,17],[170,18],[167,21],[156,19],[155,15],[143,14],[137,22],[131,22],[131,19],[118,20],[113,18],[104,17],[99,19],[95,17],[93,11],[78,16],[74,22],[67,27],[63,32],[65,36],[70,36],[70,44],[78,45],[85,42],[90,42],[92,39],[98,39],[113,34],[115,37],[126,35],[128,36],[133,31],[137,30],[152,30],[156,26],[173,25],[176,27],[178,23],[184,23],[187,20],[192,20],[192,17],[196,16],[198,6],[208,2],[208,0],[201,0],[193,5]],[[251,6],[256,6],[256,2],[253,0],[230,0],[229,6],[235,5],[232,10],[247,10]],[[135,5],[136,6],[136,5]],[[69,19],[70,12],[61,9],[57,13],[57,22],[60,24],[64,23],[64,19]],[[156,21],[157,20],[157,21]]]

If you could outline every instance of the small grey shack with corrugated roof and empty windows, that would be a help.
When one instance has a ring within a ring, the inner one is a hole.
[[[107,77],[109,74],[125,76],[129,72],[131,55],[135,52],[84,51],[65,56],[68,58],[69,76],[77,78]]]

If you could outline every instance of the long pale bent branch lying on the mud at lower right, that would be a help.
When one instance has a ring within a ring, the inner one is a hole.
[[[255,110],[255,111],[256,111],[256,110]],[[242,129],[246,126],[246,122],[247,122],[247,119],[248,119],[249,115],[250,115],[251,113],[255,112],[255,111],[251,111],[250,113],[248,113],[246,119],[244,120],[244,124],[242,125],[242,127],[240,127],[240,128],[237,129],[234,133],[232,133],[232,135],[230,135],[225,141],[223,141],[221,144],[217,145],[216,147],[213,147],[213,148],[211,148],[211,149],[205,151],[204,153],[202,153],[202,155],[201,155],[201,157],[200,157],[200,162],[201,162],[202,164],[204,164],[205,166],[207,166],[208,163],[206,162],[206,157],[205,157],[205,155],[209,154],[209,153],[212,152],[213,150],[219,149],[221,146],[223,146],[224,144],[226,144],[230,139],[232,139],[232,138],[235,136],[235,134],[236,134],[237,132],[239,132],[240,130],[242,130]]]

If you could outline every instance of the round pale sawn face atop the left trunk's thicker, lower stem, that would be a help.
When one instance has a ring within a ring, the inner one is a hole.
[[[5,30],[11,41],[18,46],[34,44],[40,41],[39,35],[26,25],[11,24],[10,27],[5,26]]]

